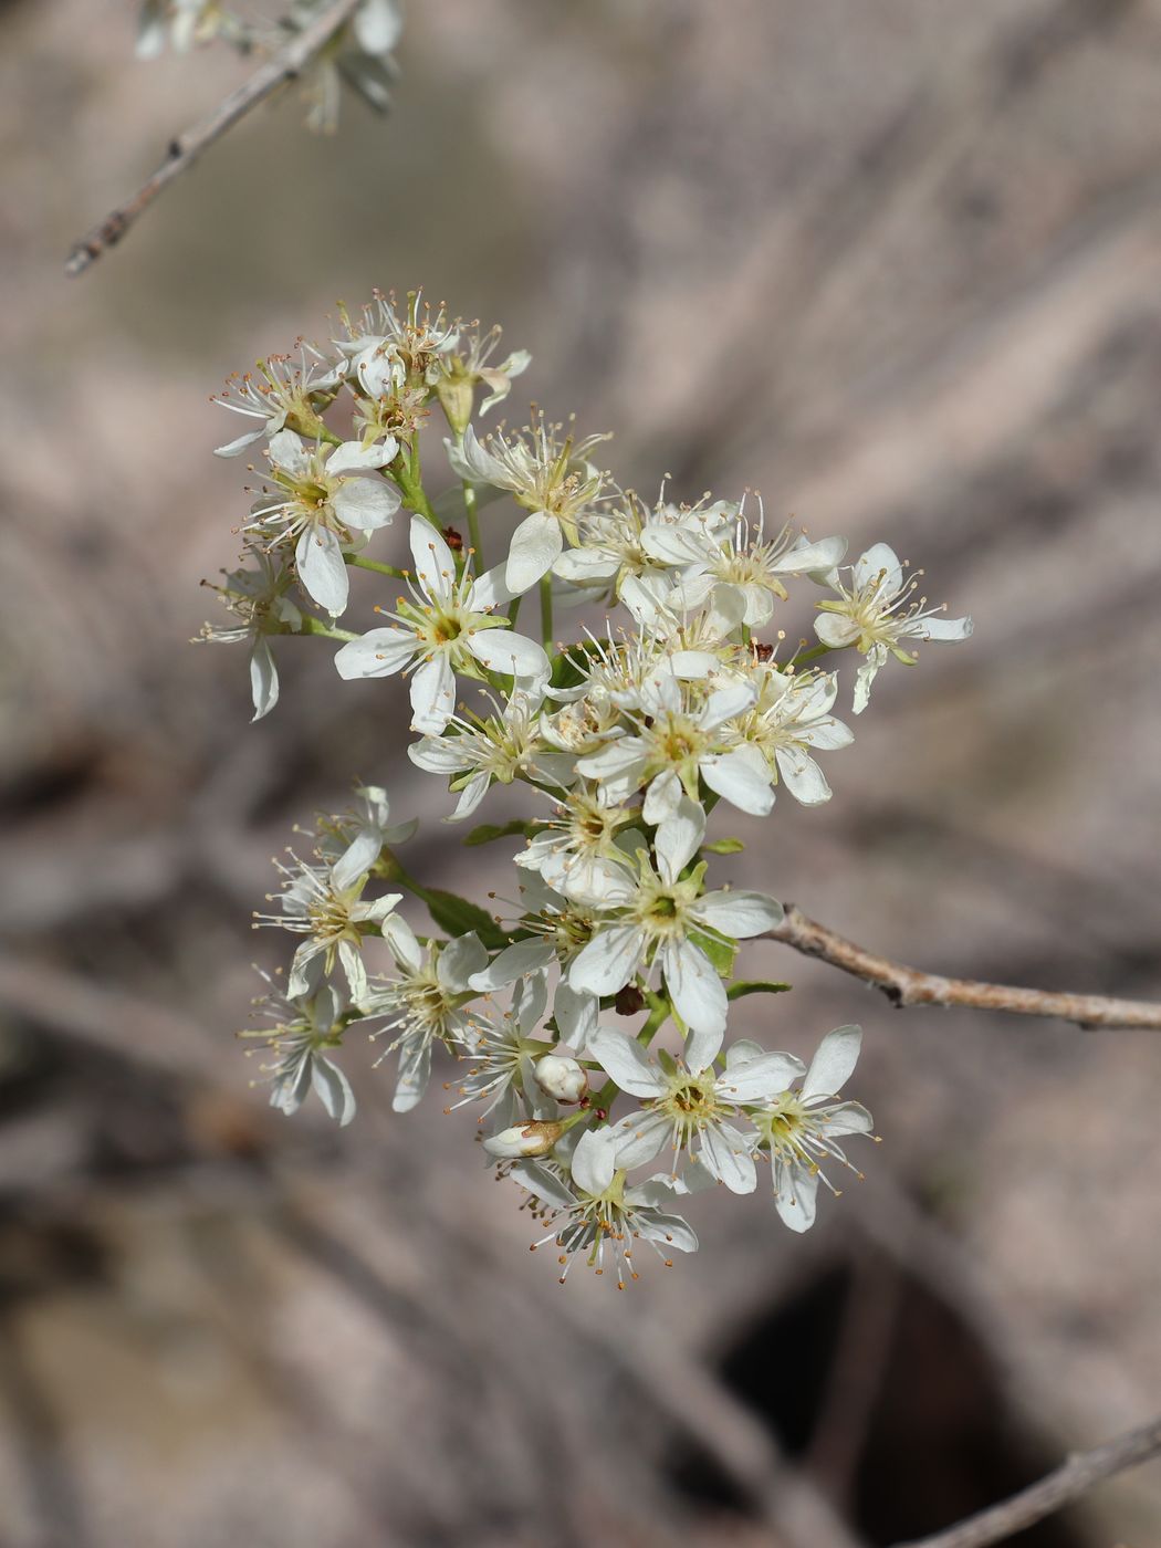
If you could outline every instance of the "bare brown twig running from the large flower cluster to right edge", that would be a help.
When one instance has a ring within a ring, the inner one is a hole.
[[[845,937],[808,918],[796,904],[763,940],[782,941],[807,957],[819,957],[831,968],[864,978],[882,989],[896,1006],[941,1005],[975,1011],[1008,1011],[1014,1015],[1059,1017],[1079,1026],[1135,1026],[1161,1033],[1161,1005],[1149,1000],[1115,1000],[1104,994],[1060,994],[1050,989],[1022,989],[1006,983],[980,983],[975,978],[944,978],[876,957]]]

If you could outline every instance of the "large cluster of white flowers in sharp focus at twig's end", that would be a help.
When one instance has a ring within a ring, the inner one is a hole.
[[[446,822],[497,785],[526,805],[467,834],[520,841],[498,915],[410,875],[415,824],[393,824],[379,786],[279,864],[257,923],[297,949],[266,997],[272,1029],[249,1034],[272,1051],[272,1104],[291,1113],[314,1090],[347,1122],[337,1060],[359,1033],[395,1068],[398,1111],[433,1060],[450,1063],[449,1108],[477,1110],[483,1153],[526,1192],[562,1279],[577,1255],[624,1285],[638,1243],[666,1262],[692,1251],[683,1200],[709,1183],[752,1192],[763,1167],[777,1215],[805,1231],[819,1184],[837,1192],[851,1169],[847,1136],[872,1132],[839,1094],[861,1031],[828,1033],[810,1067],[728,1037],[734,1002],[786,988],[735,974],[740,943],[776,930],[782,907],[711,879],[741,845],[709,820],[720,805],[765,817],[779,794],[828,800],[819,760],[853,740],[834,663],[854,653],[858,715],[890,659],[913,664],[916,641],[966,638],[971,621],[915,596],[884,543],[848,563],[842,537],[769,528],[760,502],[663,489],[649,506],[594,461],[604,437],[571,424],[477,433],[528,365],[494,362],[497,330],[413,294],[342,311],[333,331],[220,399],[248,429],[218,454],[262,447],[268,471],[241,565],[215,588],[237,622],[206,636],[249,644],[255,717],[277,700],[280,636],[336,641],[341,678],[407,680],[407,752],[450,793]],[[435,413],[450,477],[429,492]],[[508,539],[492,519],[505,497]],[[384,534],[392,557],[372,559]],[[362,633],[337,622],[351,570],[393,593]],[[776,627],[791,587],[814,599],[817,636],[796,649]],[[584,618],[571,644],[556,639],[562,607]]]

